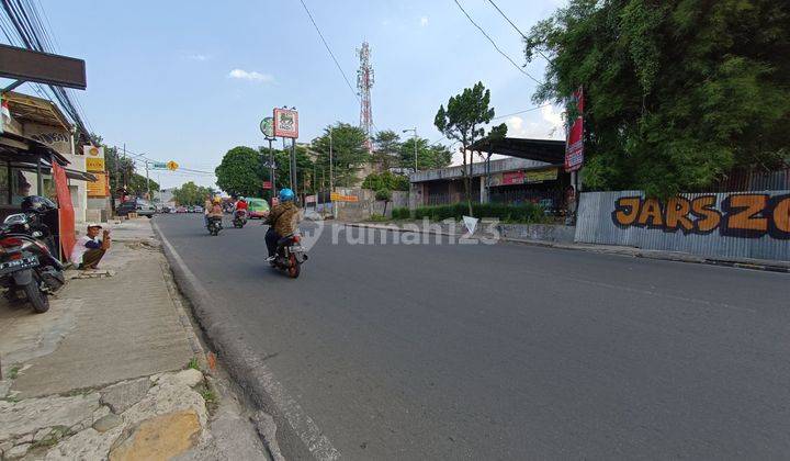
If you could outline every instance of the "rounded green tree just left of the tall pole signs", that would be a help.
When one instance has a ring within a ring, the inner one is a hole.
[[[217,185],[230,195],[256,195],[261,190],[260,154],[246,146],[228,150],[214,170]]]

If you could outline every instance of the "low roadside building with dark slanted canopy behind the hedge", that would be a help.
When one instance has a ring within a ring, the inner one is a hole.
[[[564,211],[571,175],[563,169],[565,143],[549,139],[505,137],[473,146],[471,195],[478,203],[537,203]],[[506,158],[490,159],[493,155]],[[444,205],[464,200],[463,166],[409,175],[410,206]]]

